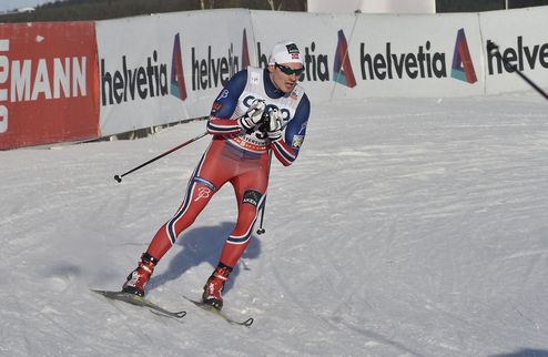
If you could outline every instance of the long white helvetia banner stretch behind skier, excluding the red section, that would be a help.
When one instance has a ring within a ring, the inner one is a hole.
[[[210,10],[97,22],[101,134],[207,115],[223,84],[300,47],[311,101],[530,90],[486,51],[548,85],[548,7],[449,14]]]

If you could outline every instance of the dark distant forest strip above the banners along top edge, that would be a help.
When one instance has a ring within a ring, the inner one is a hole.
[[[548,0],[436,0],[436,11],[479,12],[501,10],[507,4],[510,9],[548,6]],[[226,8],[306,11],[307,0],[58,0],[39,6],[34,11],[0,14],[0,23],[105,20],[150,13]]]

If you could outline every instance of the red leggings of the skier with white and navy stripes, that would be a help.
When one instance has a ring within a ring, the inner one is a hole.
[[[253,154],[214,137],[186,187],[181,207],[152,239],[146,253],[161,259],[207,205],[221,186],[230,182],[237,200],[237,222],[229,236],[220,263],[234,266],[250,244],[253,225],[268,185],[268,154]]]

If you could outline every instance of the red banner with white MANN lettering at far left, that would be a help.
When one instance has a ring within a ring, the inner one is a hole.
[[[0,24],[0,150],[99,136],[93,22]]]

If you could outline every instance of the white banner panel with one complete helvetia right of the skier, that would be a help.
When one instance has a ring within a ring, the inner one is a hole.
[[[362,14],[348,57],[366,96],[465,96],[484,93],[481,38],[473,14]]]

